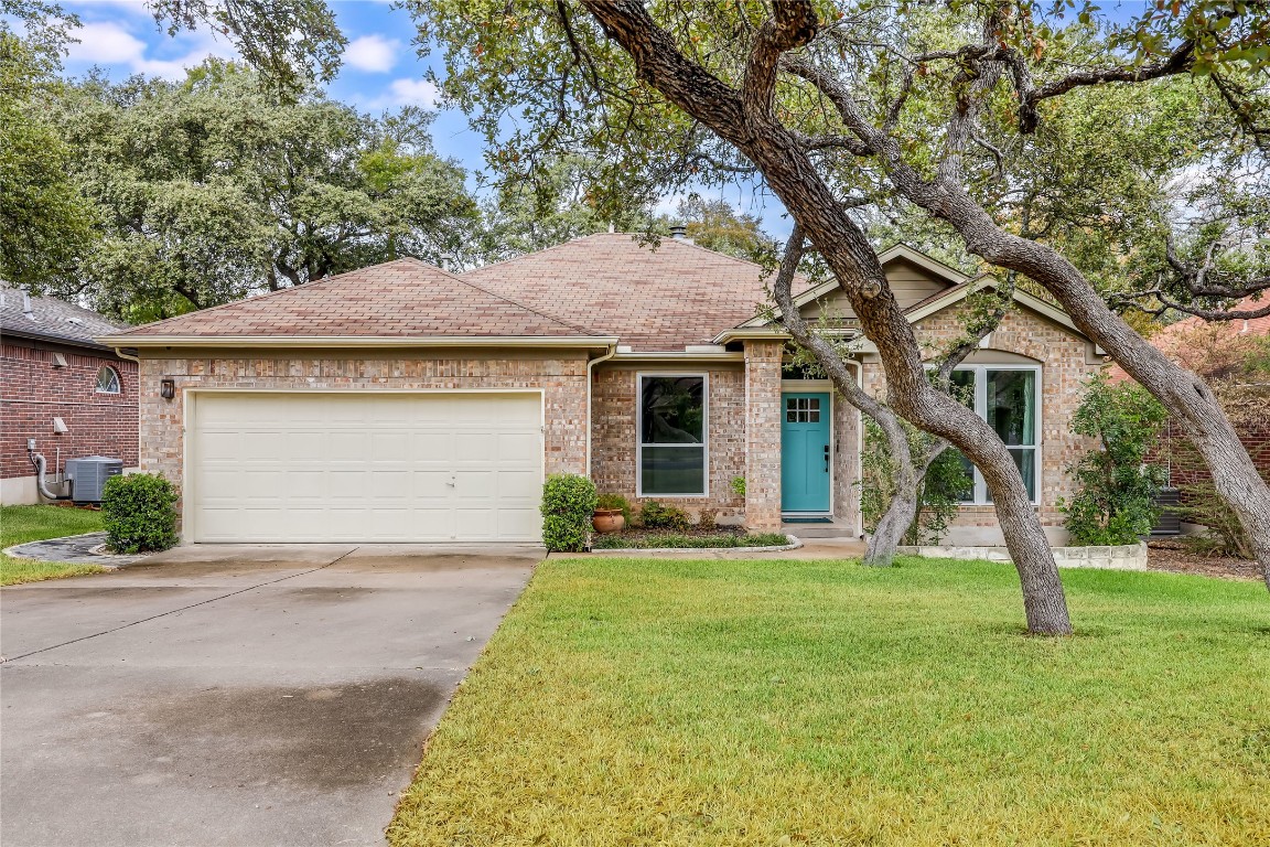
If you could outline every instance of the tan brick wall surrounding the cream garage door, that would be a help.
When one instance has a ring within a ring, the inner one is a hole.
[[[159,396],[163,378],[177,399]],[[444,390],[542,389],[546,472],[583,474],[587,467],[587,361],[583,354],[511,358],[282,358],[250,352],[198,358],[145,358],[141,367],[142,470],[182,486],[182,428],[187,389]]]

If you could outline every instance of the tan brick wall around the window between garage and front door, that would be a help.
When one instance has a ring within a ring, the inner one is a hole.
[[[732,477],[745,475],[745,381],[740,364],[693,368],[660,368],[673,373],[706,373],[710,394],[707,453],[709,497],[646,498],[678,505],[691,514],[716,509],[718,517],[740,521],[745,504],[732,493]],[[632,508],[636,497],[635,423],[639,411],[638,375],[655,373],[657,367],[606,366],[594,368],[592,382],[592,479],[602,494],[621,494]]]

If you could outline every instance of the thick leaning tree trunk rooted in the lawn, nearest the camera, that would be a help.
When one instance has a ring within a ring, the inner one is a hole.
[[[805,43],[815,33],[814,24],[805,25],[806,17],[814,22],[812,4],[790,0],[776,5],[781,10],[780,19],[775,25],[765,24],[756,38],[745,69],[747,90],[738,95],[686,58],[639,0],[583,3],[605,33],[631,56],[643,80],[739,149],[763,174],[767,185],[833,270],[865,335],[878,345],[888,395],[895,409],[918,428],[952,442],[983,472],[1022,584],[1029,631],[1071,634],[1053,551],[1010,452],[984,420],[930,385],[913,328],[886,284],[876,253],[819,177],[805,150],[771,116],[770,100],[756,97],[765,90],[770,95],[771,85],[766,79],[775,75],[781,52]],[[798,20],[799,15],[803,20]],[[803,41],[787,37],[791,19]],[[837,356],[826,358],[838,359]],[[817,356],[817,361],[822,357]]]

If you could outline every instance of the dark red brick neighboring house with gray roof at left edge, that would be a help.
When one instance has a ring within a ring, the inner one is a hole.
[[[27,443],[48,460],[137,464],[137,363],[93,339],[124,329],[88,309],[0,287],[0,502],[42,503]]]

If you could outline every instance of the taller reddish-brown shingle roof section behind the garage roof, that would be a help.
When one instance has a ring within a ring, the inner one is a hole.
[[[766,301],[757,264],[682,239],[662,239],[654,249],[621,232],[574,239],[462,277],[638,350],[709,344]]]

